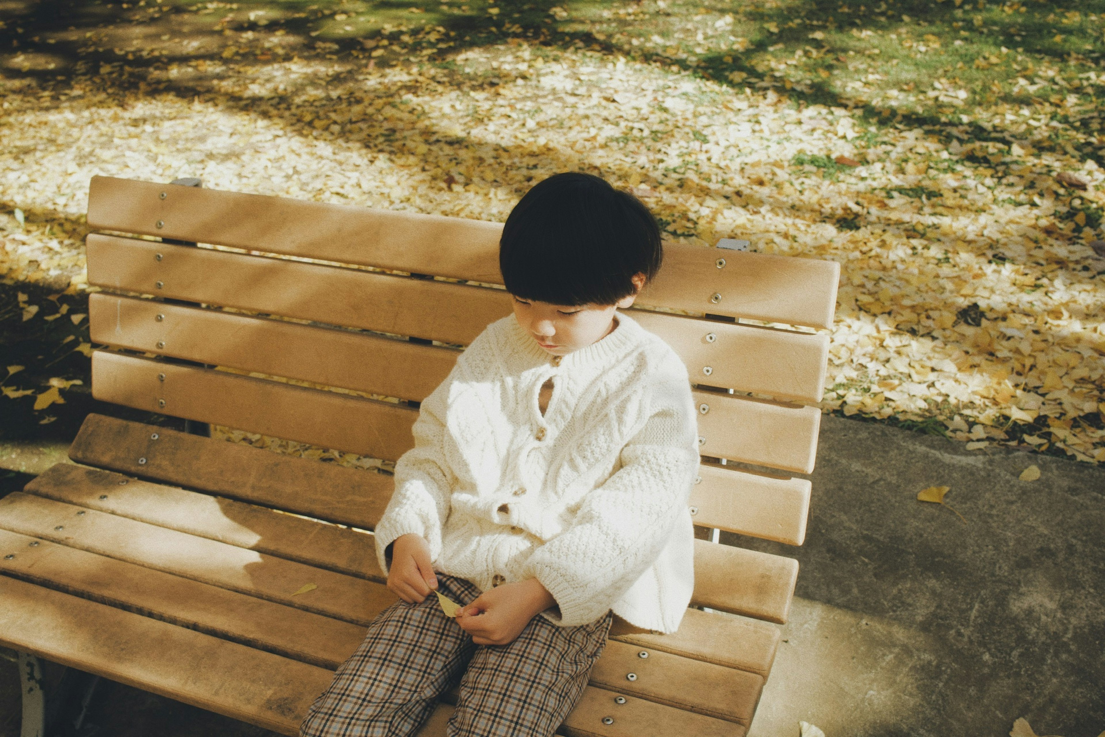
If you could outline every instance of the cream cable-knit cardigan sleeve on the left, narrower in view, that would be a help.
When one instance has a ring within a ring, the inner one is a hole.
[[[441,528],[449,517],[453,475],[444,457],[445,411],[454,369],[423,400],[412,428],[414,448],[396,462],[396,489],[377,523],[376,556],[387,575],[385,551],[397,537],[413,533],[430,544],[430,559],[441,555]]]

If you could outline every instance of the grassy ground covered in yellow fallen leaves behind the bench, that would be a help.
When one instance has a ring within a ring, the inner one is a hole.
[[[582,169],[840,262],[825,411],[1105,460],[1105,3],[44,6],[0,29],[4,288],[85,288],[96,173],[503,220]]]

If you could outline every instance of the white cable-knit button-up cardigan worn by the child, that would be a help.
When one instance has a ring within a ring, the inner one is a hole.
[[[421,535],[434,570],[486,591],[536,578],[561,627],[608,610],[674,632],[694,588],[687,506],[698,467],[686,367],[624,314],[562,358],[513,315],[490,325],[422,402],[376,527],[380,567]],[[548,408],[540,387],[552,379]]]

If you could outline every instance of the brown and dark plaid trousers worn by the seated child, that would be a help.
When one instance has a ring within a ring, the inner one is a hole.
[[[461,606],[470,581],[438,573],[438,590]],[[561,628],[534,617],[507,645],[477,645],[445,617],[438,597],[397,601],[372,620],[357,652],[307,712],[303,737],[407,737],[460,682],[448,737],[551,737],[575,708],[607,643],[612,614]]]

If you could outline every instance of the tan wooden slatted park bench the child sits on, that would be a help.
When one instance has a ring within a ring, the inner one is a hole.
[[[94,396],[196,423],[393,461],[460,347],[511,312],[497,223],[106,177],[88,223],[107,231],[87,239]],[[810,483],[789,474],[813,468],[829,343],[747,320],[829,327],[838,276],[667,245],[632,315],[696,385],[693,606],[674,634],[615,621],[560,734],[745,734],[798,564],[716,530],[801,545]],[[391,476],[98,414],[70,456],[0,501],[0,644],[24,676],[41,657],[297,734],[396,600],[370,531]]]

